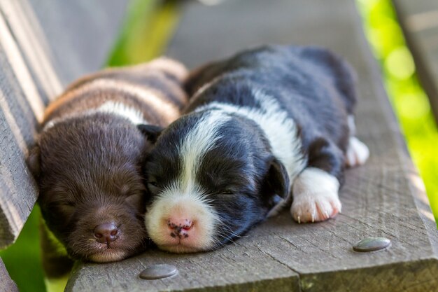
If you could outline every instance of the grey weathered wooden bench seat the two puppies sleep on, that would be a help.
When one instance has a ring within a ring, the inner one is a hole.
[[[120,263],[77,263],[66,291],[438,291],[435,221],[353,1],[190,3],[168,54],[195,67],[262,43],[326,46],[358,71],[358,135],[371,158],[346,172],[342,214],[299,225],[284,211],[211,253],[152,250]],[[365,237],[387,237],[392,246],[353,251]],[[176,265],[179,274],[139,279],[155,263]]]

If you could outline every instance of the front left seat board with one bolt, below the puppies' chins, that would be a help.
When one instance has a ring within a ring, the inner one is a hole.
[[[178,274],[153,281],[139,278],[142,270],[156,263],[171,263]],[[295,272],[242,242],[217,253],[178,256],[154,251],[121,263],[79,263],[66,291],[203,291],[206,286],[211,291],[299,291]]]

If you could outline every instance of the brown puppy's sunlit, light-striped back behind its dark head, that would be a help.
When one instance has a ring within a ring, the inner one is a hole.
[[[125,111],[127,116],[141,118],[141,123],[165,126],[178,118],[187,102],[181,88],[186,74],[182,64],[164,57],[90,74],[69,85],[48,106],[43,126],[92,111]]]

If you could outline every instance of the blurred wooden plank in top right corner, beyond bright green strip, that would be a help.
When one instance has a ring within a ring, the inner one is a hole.
[[[393,0],[393,4],[438,123],[438,2]]]

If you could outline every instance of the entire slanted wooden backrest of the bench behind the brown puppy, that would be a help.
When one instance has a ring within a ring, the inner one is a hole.
[[[11,244],[37,190],[24,158],[45,104],[102,67],[127,0],[0,0],[0,248]]]

